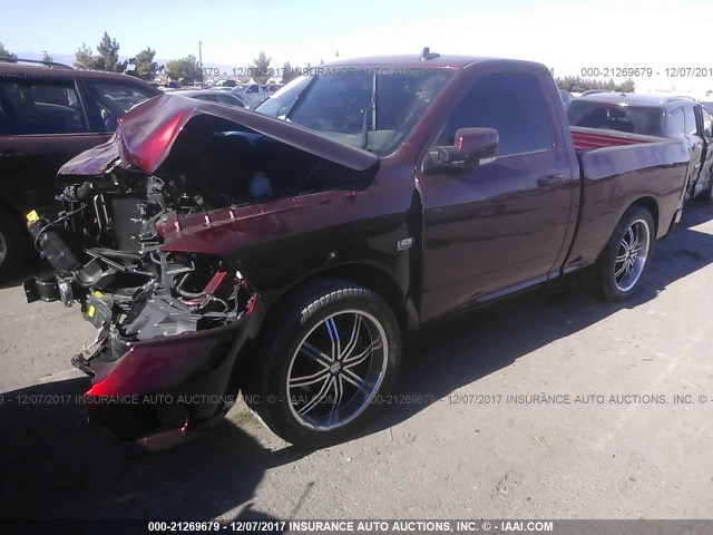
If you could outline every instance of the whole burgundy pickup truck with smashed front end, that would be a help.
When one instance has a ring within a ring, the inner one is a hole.
[[[158,96],[30,214],[29,301],[98,329],[90,419],[148,450],[242,391],[285,440],[372,416],[408,332],[579,271],[637,290],[681,215],[683,144],[570,128],[541,65],[424,54],[321,66],[257,111]]]

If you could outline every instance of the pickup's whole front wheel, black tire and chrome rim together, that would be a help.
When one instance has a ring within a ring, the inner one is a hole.
[[[332,332],[341,340],[350,325],[346,346],[335,344]],[[399,323],[378,294],[349,281],[320,279],[286,298],[267,320],[244,398],[286,441],[329,446],[352,436],[379,410],[400,357]],[[356,388],[354,378],[362,374]]]

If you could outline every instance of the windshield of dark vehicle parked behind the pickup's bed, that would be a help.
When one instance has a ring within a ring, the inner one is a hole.
[[[567,108],[572,126],[611,128],[612,130],[663,136],[664,111],[651,106],[619,106],[575,99]]]

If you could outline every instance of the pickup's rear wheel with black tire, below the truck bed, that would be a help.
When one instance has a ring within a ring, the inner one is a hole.
[[[642,246],[638,252],[626,254],[624,242],[628,243],[632,237],[641,239]],[[582,286],[606,301],[624,301],[631,298],[639,289],[648,270],[655,239],[651,212],[638,205],[629,207],[614,228],[596,263],[582,273]],[[631,269],[625,265],[627,261],[633,262]]]

